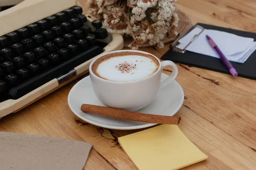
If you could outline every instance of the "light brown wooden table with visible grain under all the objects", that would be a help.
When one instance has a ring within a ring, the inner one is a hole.
[[[256,32],[255,0],[178,0],[175,4],[192,23]],[[168,46],[141,50],[161,57]],[[177,113],[182,117],[179,127],[209,156],[207,161],[183,169],[255,170],[256,81],[187,65],[177,66],[176,80],[185,93],[183,106]],[[171,74],[171,70],[167,67],[164,73]],[[86,170],[137,169],[116,138],[139,130],[103,129],[81,121],[70,111],[67,95],[80,79],[18,113],[3,117],[0,130],[90,142],[93,149]]]

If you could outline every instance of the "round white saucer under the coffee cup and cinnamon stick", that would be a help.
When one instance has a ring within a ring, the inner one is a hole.
[[[162,79],[168,76],[162,74]],[[173,116],[183,104],[184,92],[177,81],[172,82],[164,88],[161,88],[156,98],[145,108],[140,109],[140,113],[160,114],[166,116]],[[67,98],[68,105],[73,113],[80,119],[90,124],[105,127],[109,129],[131,130],[150,127],[156,124],[134,122],[123,119],[116,119],[107,116],[102,116],[93,113],[86,113],[80,110],[82,104],[104,106],[96,97],[90,82],[90,76],[81,79],[73,88]]]

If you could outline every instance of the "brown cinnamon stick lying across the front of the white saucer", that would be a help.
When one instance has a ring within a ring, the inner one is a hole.
[[[158,123],[178,125],[180,123],[180,116],[162,116],[155,114],[145,114],[132,111],[125,111],[122,109],[108,108],[96,105],[81,105],[81,111],[88,113],[95,113],[104,116],[110,116],[118,119],[125,119],[137,122]]]

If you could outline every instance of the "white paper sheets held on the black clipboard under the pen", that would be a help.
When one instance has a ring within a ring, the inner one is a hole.
[[[200,31],[200,28],[195,27],[189,34],[179,40],[180,44],[178,47],[184,48],[192,37]],[[253,42],[253,38],[240,37],[235,34],[208,29],[204,29],[186,50],[219,58],[218,54],[209,45],[206,34],[218,45],[227,59],[233,62],[244,63],[256,50],[256,42]]]

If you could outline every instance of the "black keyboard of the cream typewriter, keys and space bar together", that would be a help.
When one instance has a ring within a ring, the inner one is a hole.
[[[0,102],[18,99],[101,54],[108,37],[100,20],[74,6],[0,36]],[[92,29],[93,28],[93,29]],[[92,31],[94,30],[94,31]]]

